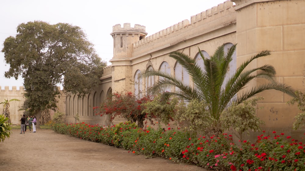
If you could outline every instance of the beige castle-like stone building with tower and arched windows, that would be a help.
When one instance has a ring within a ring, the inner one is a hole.
[[[233,5],[235,2],[235,5]],[[104,69],[101,86],[83,99],[66,97],[66,121],[73,122],[73,114],[91,124],[108,125],[106,117],[96,116],[93,107],[98,106],[107,94],[132,91],[135,94],[158,79],[142,78],[142,70],[154,68],[182,77],[183,70],[168,56],[173,51],[182,51],[197,59],[198,48],[212,55],[218,46],[237,43],[233,72],[243,61],[262,51],[271,50],[270,56],[257,59],[253,67],[271,64],[275,67],[276,79],[303,90],[305,64],[305,1],[302,0],[232,0],[191,16],[174,26],[169,26],[147,36],[145,26],[129,23],[113,26],[112,65]],[[198,58],[198,60],[200,60]],[[200,61],[198,61],[200,62]],[[183,81],[192,84],[186,74]],[[252,86],[260,84],[260,80]],[[289,135],[300,135],[292,131],[294,116],[299,112],[289,106],[290,96],[279,91],[264,91],[258,107],[264,107],[257,115],[266,122],[266,131],[281,131]]]

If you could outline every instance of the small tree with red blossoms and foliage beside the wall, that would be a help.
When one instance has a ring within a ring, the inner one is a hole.
[[[143,96],[137,99],[135,94],[127,92],[113,93],[101,104],[99,115],[108,115],[110,122],[117,116],[127,119],[131,122],[138,122],[138,127],[143,128],[144,120],[148,119],[152,124],[155,118],[154,115],[147,116],[147,113],[142,113],[145,109],[141,104],[151,101],[150,95]]]

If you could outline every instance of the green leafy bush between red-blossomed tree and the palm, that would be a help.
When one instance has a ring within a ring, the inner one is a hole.
[[[178,98],[164,99],[158,94],[152,101],[141,104],[144,106],[142,113],[147,113],[147,116],[156,117],[158,123],[168,124],[172,121],[176,113],[176,105],[179,103]]]

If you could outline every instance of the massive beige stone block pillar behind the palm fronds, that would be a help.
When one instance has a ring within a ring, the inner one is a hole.
[[[305,50],[305,1],[300,0],[232,0],[235,2],[237,66],[262,50],[271,50],[270,56],[261,57],[250,67],[270,64],[277,72],[276,80],[304,91],[302,85]],[[252,85],[259,85],[257,79]],[[266,122],[263,129],[292,132],[296,105],[280,91],[264,91],[258,107],[258,116]],[[267,131],[266,130],[266,131]]]

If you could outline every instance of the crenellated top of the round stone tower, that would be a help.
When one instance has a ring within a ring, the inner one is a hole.
[[[122,32],[124,33],[144,33],[145,35],[147,35],[147,33],[145,32],[146,27],[145,26],[141,26],[139,24],[135,24],[135,27],[131,27],[130,23],[124,23],[124,26],[121,27],[120,24],[116,24],[114,26],[112,26],[112,32],[110,33],[110,35],[114,35],[114,34],[120,34]]]

